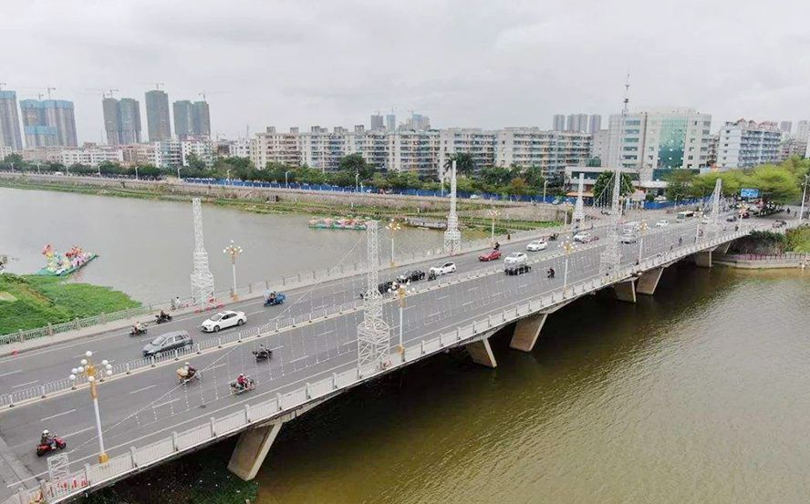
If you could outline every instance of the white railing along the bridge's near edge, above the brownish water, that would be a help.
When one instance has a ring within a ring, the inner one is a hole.
[[[711,249],[746,234],[748,234],[748,231],[734,231],[722,235],[722,237],[678,247],[670,252],[662,252],[645,259],[639,264],[622,266],[612,274],[606,276],[597,274],[580,282],[572,283],[566,292],[539,294],[527,301],[514,303],[512,307],[483,315],[480,319],[473,321],[472,324],[464,324],[449,329],[437,337],[421,340],[418,344],[406,345],[404,354],[401,356],[392,354],[383,369],[374,366],[365,368],[350,367],[339,373],[322,375],[320,378],[314,379],[312,382],[306,383],[295,390],[276,393],[274,398],[252,406],[245,405],[244,408],[223,417],[211,417],[191,429],[173,432],[171,437],[166,437],[143,447],[130,447],[129,451],[110,458],[107,463],[86,464],[83,468],[70,473],[68,478],[63,480],[43,481],[39,489],[20,489],[14,497],[7,499],[4,504],[30,504],[43,502],[43,499],[47,499],[45,501],[49,503],[61,502],[86,492],[88,489],[99,487],[115,479],[125,477],[132,472],[175,457],[182,451],[202,447],[218,439],[233,436],[245,427],[280,417],[297,408],[306,406],[308,403],[327,398],[340,391],[364,383],[369,379],[389,373],[401,366],[409,365],[421,358],[441,352],[445,348],[470,343],[480,334],[497,329],[504,324],[510,324],[528,315],[542,312],[556,306],[556,304],[571,301],[587,293],[608,287],[613,283],[632,279],[635,275],[644,271],[678,261],[692,253]],[[498,268],[498,271],[502,272],[501,268]],[[462,281],[462,279],[456,278],[452,283]]]

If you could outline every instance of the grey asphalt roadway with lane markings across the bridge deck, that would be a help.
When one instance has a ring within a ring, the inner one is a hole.
[[[668,228],[648,231],[643,243],[643,256],[650,257],[694,241],[696,221],[674,223]],[[603,233],[604,231],[599,231]],[[707,236],[708,238],[708,236]],[[604,241],[600,241],[604,242]],[[600,243],[600,242],[597,242]],[[530,256],[546,257],[558,252],[556,245],[545,252],[527,252]],[[525,242],[504,243],[505,253],[524,250]],[[569,256],[568,283],[590,278],[598,271],[598,254],[603,246],[573,252]],[[639,255],[639,243],[623,245],[623,262],[632,263]],[[456,258],[459,271],[489,266],[480,263],[477,253]],[[466,282],[455,283],[441,289],[411,295],[405,308],[403,339],[406,344],[430,339],[440,332],[469,324],[485,314],[500,313],[505,308],[522,303],[528,297],[559,290],[564,282],[564,257],[546,259],[536,264],[531,273],[519,276],[490,274]],[[435,262],[420,266],[398,268],[380,275],[380,280],[389,278],[403,269],[419,267],[426,270]],[[555,279],[545,277],[545,269],[554,267]],[[338,303],[354,297],[362,291],[365,279],[362,276],[322,283],[313,287],[297,289],[288,294],[283,306],[263,308],[260,301],[239,303],[236,309],[248,314],[248,324],[263,324],[276,316],[306,313],[325,303]],[[391,345],[398,344],[399,307],[389,301],[384,314],[391,326]],[[352,368],[357,363],[356,334],[361,312],[344,314],[296,329],[272,334],[255,343],[226,347],[205,355],[194,356],[192,364],[202,370],[202,380],[185,386],[176,383],[176,364],[160,365],[125,378],[109,381],[99,387],[104,439],[110,456],[123,453],[130,446],[143,446],[171,436],[171,431],[182,431],[206,421],[209,417],[222,417],[244,404],[254,404],[302,386],[306,381],[315,381],[333,372]],[[186,329],[195,338],[215,337],[202,335],[196,327],[203,315],[178,317],[170,324],[161,324],[160,330]],[[91,348],[99,358],[129,360],[140,356],[140,348],[156,333],[152,325],[148,337],[130,338],[127,332],[99,334],[92,341],[84,340],[47,349],[17,355],[0,361],[3,388],[20,386],[62,378],[69,368],[77,365],[83,352]],[[264,342],[274,350],[269,362],[255,362],[255,345]],[[254,377],[257,390],[242,396],[230,396],[228,382],[239,372]],[[98,453],[92,406],[88,393],[77,391],[54,396],[31,404],[5,409],[0,412],[2,438],[16,458],[21,460],[32,474],[41,476],[47,471],[46,459],[36,458],[34,448],[42,429],[48,428],[68,440],[68,457],[71,468],[92,462]],[[25,478],[24,478],[25,479]],[[9,491],[20,481],[5,481]],[[34,480],[24,481],[33,486]],[[0,491],[0,495],[4,492]]]

